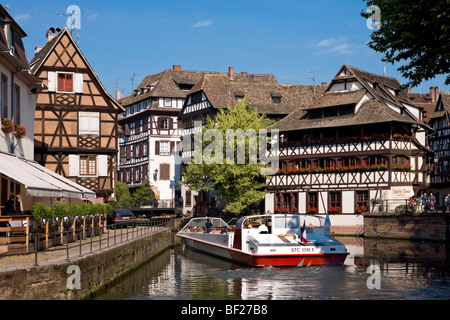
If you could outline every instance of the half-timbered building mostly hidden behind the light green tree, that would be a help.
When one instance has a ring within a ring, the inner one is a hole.
[[[240,99],[246,99],[260,114],[278,121],[300,106],[308,105],[321,96],[326,89],[322,85],[279,84],[273,74],[235,73],[233,67],[228,73],[206,74],[189,92],[178,119],[182,122],[183,139],[193,142],[197,123],[204,125],[206,119],[215,118],[219,109],[234,106]],[[193,157],[194,144],[183,143],[182,168]],[[183,169],[182,169],[183,170]],[[184,211],[195,215],[211,214],[216,206],[213,194],[189,187],[182,187],[185,200]]]

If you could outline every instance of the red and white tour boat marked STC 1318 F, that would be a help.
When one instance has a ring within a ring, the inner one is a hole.
[[[328,222],[314,215],[265,214],[242,217],[233,227],[202,217],[191,219],[177,236],[195,250],[254,267],[342,265],[348,252],[331,237]]]

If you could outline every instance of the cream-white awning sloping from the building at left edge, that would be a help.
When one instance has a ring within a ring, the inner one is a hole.
[[[95,192],[34,161],[0,153],[0,173],[23,184],[32,197],[95,198]]]

